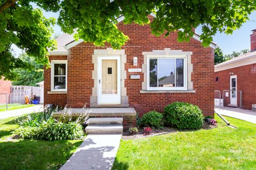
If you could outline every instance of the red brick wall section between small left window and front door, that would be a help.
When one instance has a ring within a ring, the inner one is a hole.
[[[83,107],[90,104],[94,81],[92,79],[92,54],[96,47],[81,43],[71,48],[68,56],[68,94],[67,104],[71,107]],[[99,48],[99,47],[98,47]]]

